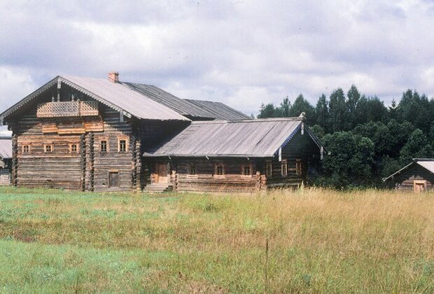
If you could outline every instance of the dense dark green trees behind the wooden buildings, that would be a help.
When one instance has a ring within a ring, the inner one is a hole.
[[[262,104],[258,118],[292,117],[306,113],[306,122],[330,152],[314,178],[335,188],[381,187],[412,158],[434,158],[434,99],[416,90],[402,93],[399,103],[385,106],[378,97],[360,94],[352,85],[311,105],[300,94],[280,105]]]

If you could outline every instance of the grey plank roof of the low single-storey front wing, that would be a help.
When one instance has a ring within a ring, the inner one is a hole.
[[[301,124],[300,118],[193,122],[144,156],[272,157]]]

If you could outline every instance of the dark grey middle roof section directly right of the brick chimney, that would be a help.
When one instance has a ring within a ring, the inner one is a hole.
[[[185,99],[178,98],[165,90],[155,87],[154,85],[144,85],[138,83],[126,83],[123,85],[130,87],[130,89],[144,94],[146,97],[153,99],[164,106],[169,107],[183,116],[192,116],[195,118],[214,118],[210,117],[207,111],[202,110],[200,107],[191,104]]]

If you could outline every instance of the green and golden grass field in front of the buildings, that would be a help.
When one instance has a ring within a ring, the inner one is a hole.
[[[434,194],[0,188],[0,292],[433,293]]]

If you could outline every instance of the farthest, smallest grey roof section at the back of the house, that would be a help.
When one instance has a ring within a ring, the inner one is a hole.
[[[250,120],[250,116],[246,116],[235,109],[232,109],[221,102],[185,99],[186,101],[207,111],[208,116],[217,120]]]

